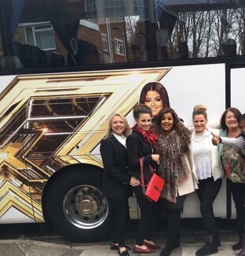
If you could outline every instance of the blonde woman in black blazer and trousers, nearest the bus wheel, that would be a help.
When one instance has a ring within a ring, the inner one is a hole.
[[[130,184],[139,182],[127,174],[126,137],[130,126],[126,118],[115,113],[109,121],[107,138],[101,142],[101,158],[104,165],[103,191],[108,199],[112,217],[111,249],[119,255],[129,255],[125,245],[128,198],[132,195]]]

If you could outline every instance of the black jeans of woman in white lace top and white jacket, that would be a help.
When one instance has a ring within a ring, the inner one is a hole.
[[[201,202],[200,212],[203,217],[204,227],[207,235],[214,235],[217,231],[217,225],[214,217],[213,202],[221,188],[222,180],[218,179],[214,181],[214,178],[210,177],[198,181],[199,189],[196,190],[196,194]]]

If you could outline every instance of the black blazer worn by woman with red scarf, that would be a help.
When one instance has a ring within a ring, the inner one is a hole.
[[[130,176],[135,176],[141,179],[140,158],[144,157],[144,180],[148,181],[151,177],[151,169],[155,166],[152,159],[152,146],[150,143],[145,142],[142,135],[138,132],[132,132],[126,139],[127,158],[129,164]]]

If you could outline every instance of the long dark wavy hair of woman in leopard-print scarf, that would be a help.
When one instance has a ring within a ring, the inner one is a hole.
[[[170,113],[174,119],[174,124],[172,130],[174,130],[180,141],[181,141],[181,149],[184,153],[189,151],[189,143],[191,142],[190,139],[190,132],[188,128],[185,127],[183,122],[180,120],[180,118],[177,116],[177,113],[174,111],[174,109],[171,108],[164,108],[159,112],[159,115],[156,118],[156,123],[155,123],[155,128],[154,131],[155,133],[159,136],[163,132],[163,128],[161,126],[161,121],[163,120],[163,116],[166,113]]]

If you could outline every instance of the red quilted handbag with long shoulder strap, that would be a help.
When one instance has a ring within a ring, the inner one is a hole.
[[[144,158],[140,158],[140,166],[141,166],[141,186],[143,187],[143,194],[148,200],[157,202],[159,197],[163,191],[163,187],[165,185],[165,180],[158,176],[156,173],[152,173],[151,179],[148,184],[144,186]]]

